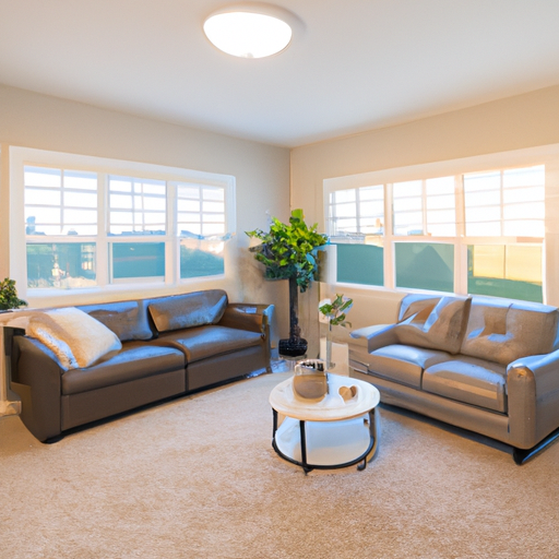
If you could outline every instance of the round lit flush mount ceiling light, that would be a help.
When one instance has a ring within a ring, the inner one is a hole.
[[[219,50],[240,58],[270,57],[293,37],[294,16],[269,4],[235,4],[213,12],[204,33]]]

